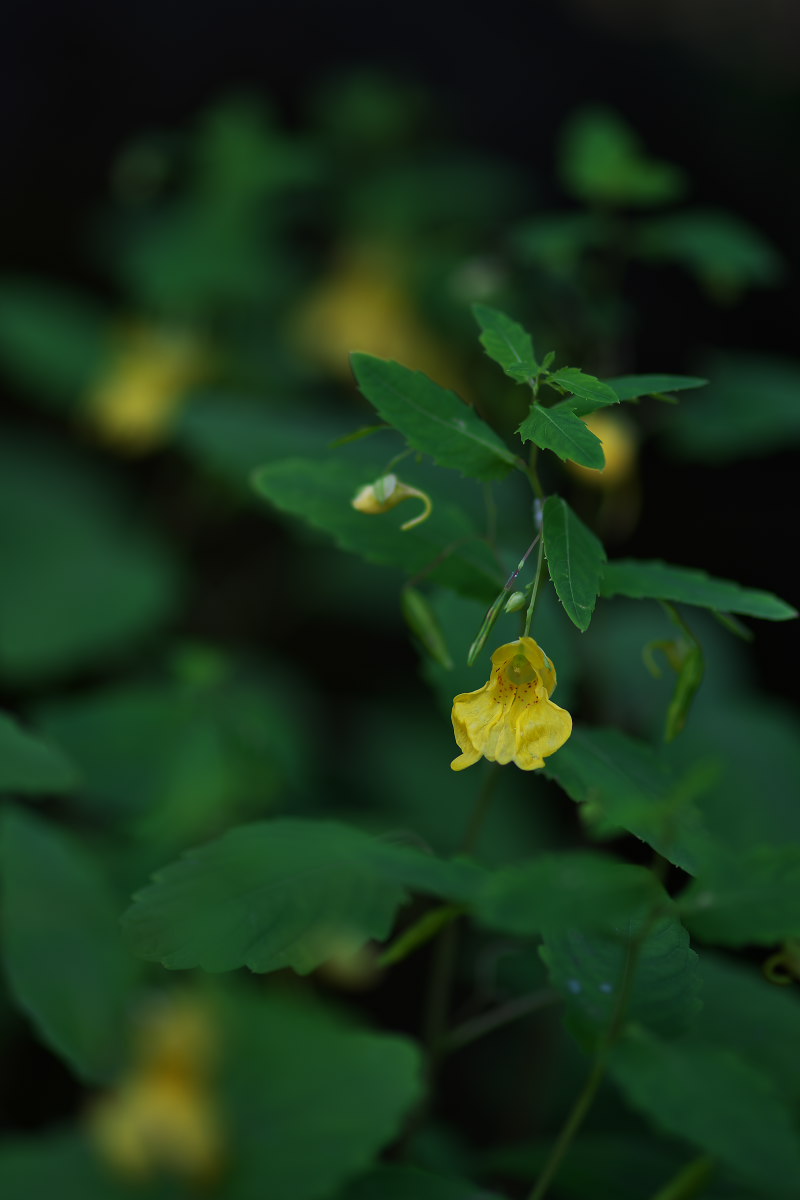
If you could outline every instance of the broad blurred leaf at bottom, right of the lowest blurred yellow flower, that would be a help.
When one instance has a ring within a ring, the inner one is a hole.
[[[421,1056],[405,1038],[264,989],[230,997],[227,1018],[225,1200],[326,1200],[373,1165],[422,1098]]]

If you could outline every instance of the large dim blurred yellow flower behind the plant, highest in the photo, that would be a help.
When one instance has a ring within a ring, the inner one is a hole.
[[[463,395],[451,356],[420,320],[403,286],[401,254],[386,246],[344,251],[297,312],[294,332],[305,355],[348,383],[349,355],[362,350],[425,371]]]

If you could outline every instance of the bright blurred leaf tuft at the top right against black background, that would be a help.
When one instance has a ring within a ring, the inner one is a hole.
[[[579,109],[561,132],[559,173],[565,188],[590,205],[652,208],[681,197],[682,170],[651,158],[612,109]]]

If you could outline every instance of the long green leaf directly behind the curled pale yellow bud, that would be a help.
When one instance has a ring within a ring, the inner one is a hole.
[[[494,599],[503,576],[488,546],[459,509],[439,504],[434,496],[432,516],[414,529],[402,530],[407,520],[402,508],[375,516],[351,506],[357,487],[368,481],[363,469],[349,463],[311,458],[270,463],[253,479],[255,491],[278,509],[331,534],[344,550],[371,563],[416,575],[439,560],[429,572],[432,580],[481,601]]]

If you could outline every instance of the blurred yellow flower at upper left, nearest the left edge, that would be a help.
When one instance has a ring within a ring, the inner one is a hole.
[[[196,338],[146,325],[130,329],[88,397],[88,419],[118,448],[150,450],[166,440],[188,389],[207,371]]]

